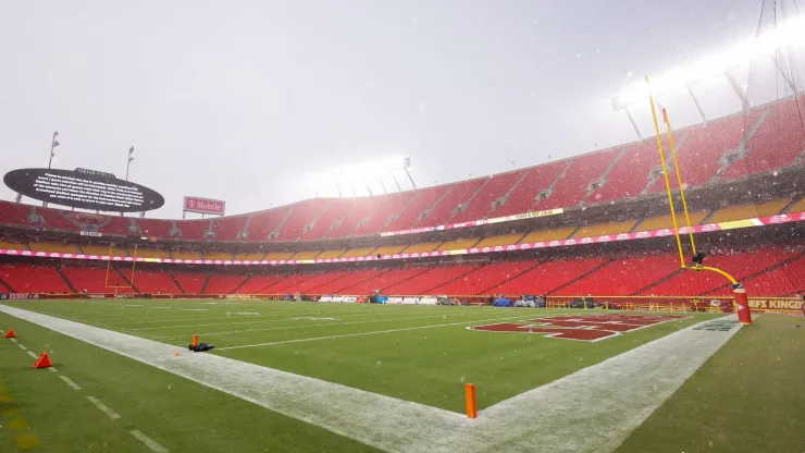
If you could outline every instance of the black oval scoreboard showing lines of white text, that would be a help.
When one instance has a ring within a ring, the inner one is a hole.
[[[78,170],[20,169],[3,182],[26,197],[71,208],[111,212],[159,209],[165,199],[146,186],[119,180],[111,173]]]

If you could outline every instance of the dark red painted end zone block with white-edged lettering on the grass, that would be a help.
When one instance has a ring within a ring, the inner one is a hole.
[[[488,332],[542,333],[565,340],[598,341],[623,332],[684,318],[674,315],[581,315],[555,316],[528,321],[468,327]]]

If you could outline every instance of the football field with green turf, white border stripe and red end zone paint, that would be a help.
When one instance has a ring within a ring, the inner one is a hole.
[[[3,414],[26,420],[0,444],[44,451],[83,451],[65,438],[107,451],[611,451],[743,332],[722,314],[201,299],[7,301],[0,323],[18,335],[0,348]],[[215,348],[188,352],[194,334]],[[30,369],[42,351],[54,371]]]

